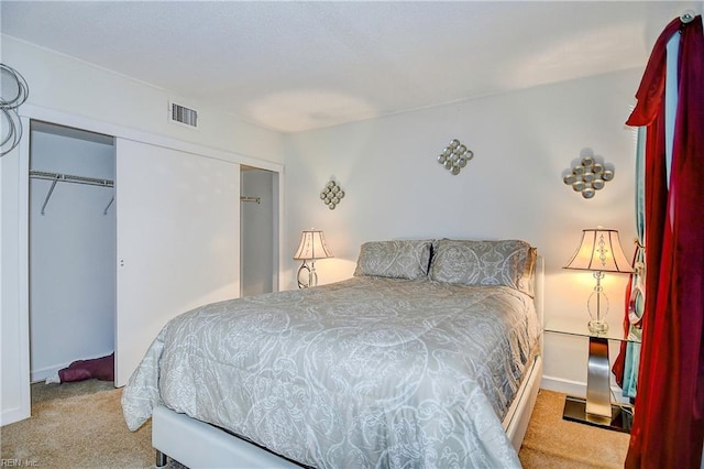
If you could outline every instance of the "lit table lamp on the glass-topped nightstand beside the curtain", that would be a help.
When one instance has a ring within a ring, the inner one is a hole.
[[[586,308],[591,317],[588,328],[592,334],[606,332],[608,330],[606,323],[608,298],[601,283],[604,272],[634,272],[620,247],[618,231],[602,227],[582,230],[582,242],[563,269],[594,272],[596,285],[586,301]]]

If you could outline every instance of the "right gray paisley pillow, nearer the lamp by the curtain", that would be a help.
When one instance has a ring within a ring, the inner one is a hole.
[[[504,285],[534,296],[537,252],[525,241],[437,241],[428,276],[462,285]]]

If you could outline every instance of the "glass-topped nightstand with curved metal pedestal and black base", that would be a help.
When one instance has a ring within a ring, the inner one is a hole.
[[[593,334],[586,327],[586,321],[579,324],[573,320],[550,320],[544,331],[588,338],[586,399],[568,396],[562,418],[630,433],[632,407],[612,403],[608,341],[637,342],[639,340],[625,337],[620,325],[613,326],[606,332]],[[630,410],[630,415],[624,408]]]

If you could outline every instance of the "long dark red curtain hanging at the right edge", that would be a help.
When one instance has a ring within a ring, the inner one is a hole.
[[[670,187],[666,46],[680,34]],[[646,304],[627,468],[700,468],[704,441],[704,34],[702,18],[662,32],[627,123],[647,126]]]

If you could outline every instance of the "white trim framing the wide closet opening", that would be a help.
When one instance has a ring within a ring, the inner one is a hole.
[[[274,173],[277,173],[277,182],[278,185],[276,187],[278,192],[278,217],[277,217],[277,238],[278,238],[278,252],[275,252],[275,258],[277,258],[278,262],[278,277],[282,277],[282,262],[283,259],[283,249],[284,246],[284,165],[278,163],[268,162],[265,160],[258,160],[251,156],[242,155],[239,153],[227,152],[213,148],[204,146],[198,143],[186,142],[183,140],[177,140],[169,137],[157,135],[150,132],[143,132],[136,129],[125,128],[122,126],[99,121],[95,119],[89,119],[81,116],[75,116],[72,113],[56,111],[53,109],[43,108],[40,106],[34,106],[30,103],[24,103],[22,106],[20,112],[20,119],[24,129],[28,129],[25,137],[21,139],[20,144],[16,149],[19,156],[19,170],[18,170],[18,186],[9,189],[9,195],[12,197],[16,197],[18,200],[18,217],[16,219],[3,220],[4,222],[16,222],[16,265],[14,269],[10,269],[10,271],[16,272],[16,285],[11,284],[11,288],[6,288],[6,280],[2,280],[2,304],[11,304],[18,306],[16,312],[16,320],[19,321],[18,329],[19,330],[2,330],[2,338],[11,337],[16,335],[18,349],[14,350],[16,355],[13,355],[11,359],[15,361],[15,367],[13,368],[12,373],[7,373],[7,370],[3,370],[2,380],[8,380],[12,382],[21,396],[19,406],[10,407],[10,408],[0,408],[0,424],[7,425],[13,422],[18,422],[24,418],[30,417],[31,415],[31,402],[30,402],[30,330],[29,330],[29,321],[30,321],[30,313],[29,313],[29,187],[30,187],[30,177],[29,177],[29,156],[30,156],[30,142],[29,142],[29,129],[31,120],[42,120],[45,122],[55,123],[58,126],[73,127],[76,129],[82,129],[89,132],[102,133],[106,135],[112,135],[114,138],[122,138],[127,140],[134,140],[142,143],[148,143],[153,145],[164,146],[168,149],[174,149],[178,151],[184,151],[188,153],[195,153],[207,157],[213,157],[218,160],[223,160],[228,162],[244,164],[248,166],[258,167],[262,170],[268,170]],[[11,155],[11,154],[10,154]],[[7,155],[7,156],[10,156]],[[7,157],[3,156],[3,157]],[[3,176],[4,177],[4,176]],[[119,184],[116,181],[116,185]],[[16,194],[13,189],[16,188]],[[3,194],[3,197],[6,195]],[[11,198],[12,198],[11,197]],[[4,228],[3,228],[3,232]],[[14,238],[15,231],[11,231],[10,234]],[[4,241],[3,241],[4,244]],[[1,248],[0,248],[1,249]],[[14,258],[10,261],[7,261],[6,257],[9,253],[2,252],[3,257],[3,269],[6,263],[12,265],[14,262]],[[117,263],[117,260],[116,260]],[[9,282],[8,282],[9,283]],[[16,286],[16,288],[15,288]],[[3,315],[8,314],[7,312]],[[2,340],[4,342],[4,340]],[[3,347],[4,349],[4,347]],[[8,375],[6,375],[8,374]]]

